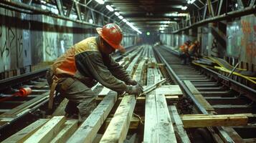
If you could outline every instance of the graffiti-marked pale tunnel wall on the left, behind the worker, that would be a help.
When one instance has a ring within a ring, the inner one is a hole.
[[[98,35],[93,26],[2,8],[0,21],[0,73],[28,71],[29,66],[52,61],[78,41]],[[136,36],[124,36],[122,44],[136,44]]]

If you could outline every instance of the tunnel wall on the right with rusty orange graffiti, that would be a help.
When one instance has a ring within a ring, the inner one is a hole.
[[[194,33],[189,34],[189,32],[161,34],[160,40],[167,46],[179,47],[188,39],[191,41],[199,39],[201,41],[202,55],[221,57],[232,65],[240,62],[241,68],[256,71],[255,14],[228,21],[224,42],[214,36],[211,24],[201,26],[199,29],[201,32],[198,32],[197,35],[194,35]]]

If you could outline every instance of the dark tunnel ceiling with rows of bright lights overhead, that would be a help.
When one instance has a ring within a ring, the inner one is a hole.
[[[108,18],[114,19],[123,27],[125,22],[115,16],[115,12],[118,12],[140,31],[159,31],[161,26],[171,27],[183,19],[187,19],[189,12],[191,13],[194,9],[202,9],[207,3],[207,0],[23,0],[24,3],[27,1],[32,1],[32,3],[38,4],[37,6],[52,4],[58,9],[61,4],[65,12],[69,11],[69,7],[71,7],[72,14],[77,14],[77,6],[79,6],[78,13],[80,14],[77,16],[85,17],[85,19],[80,18],[82,21],[88,21],[87,17],[90,16],[90,12],[96,11],[98,14],[104,14]],[[97,1],[104,1],[104,4]],[[193,4],[189,4],[189,1],[193,1]],[[112,6],[114,11],[108,11],[107,5]],[[181,9],[182,7],[187,9]],[[93,10],[89,11],[88,9]],[[95,19],[100,19],[100,17],[95,16],[93,20],[95,21]],[[131,26],[126,27],[131,29]]]

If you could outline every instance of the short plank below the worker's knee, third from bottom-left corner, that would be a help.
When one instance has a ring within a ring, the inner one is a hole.
[[[54,139],[52,139],[51,143],[62,143],[67,142],[67,139],[75,132],[78,126],[77,119],[69,119],[65,122],[63,129],[57,134]]]

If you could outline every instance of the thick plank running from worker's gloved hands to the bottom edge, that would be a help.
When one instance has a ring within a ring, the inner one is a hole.
[[[129,124],[136,104],[134,96],[123,97],[113,119],[100,140],[103,142],[123,142],[128,133]]]

